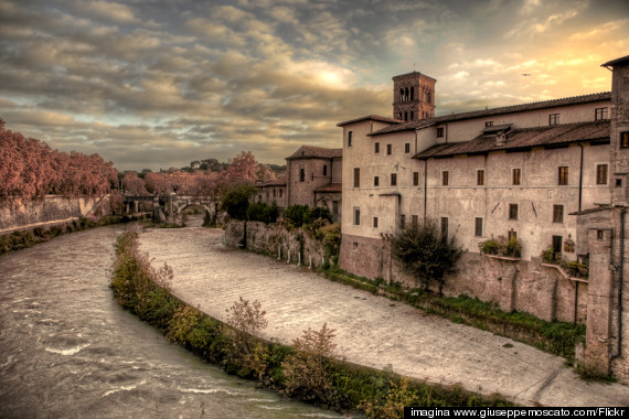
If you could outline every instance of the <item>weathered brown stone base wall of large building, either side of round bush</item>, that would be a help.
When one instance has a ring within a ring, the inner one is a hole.
[[[344,235],[339,265],[370,279],[417,286],[391,257],[388,240]],[[539,258],[512,261],[467,253],[459,261],[458,273],[446,278],[443,291],[492,301],[504,311],[525,311],[546,321],[574,322],[576,301],[576,321],[585,324],[587,288],[587,282],[577,284],[557,269],[542,266]]]

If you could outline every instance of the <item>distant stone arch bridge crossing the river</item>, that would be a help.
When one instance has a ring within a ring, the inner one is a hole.
[[[218,213],[218,200],[211,196],[191,195],[125,195],[125,212],[137,213],[140,202],[152,202],[153,221],[157,223],[183,223],[183,211],[190,206],[203,208],[205,219],[215,222]]]

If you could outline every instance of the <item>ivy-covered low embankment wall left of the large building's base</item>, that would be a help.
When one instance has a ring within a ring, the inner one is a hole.
[[[230,221],[225,225],[225,244],[313,268],[326,261],[326,250],[320,241],[310,238],[301,228],[287,230],[280,224]]]

